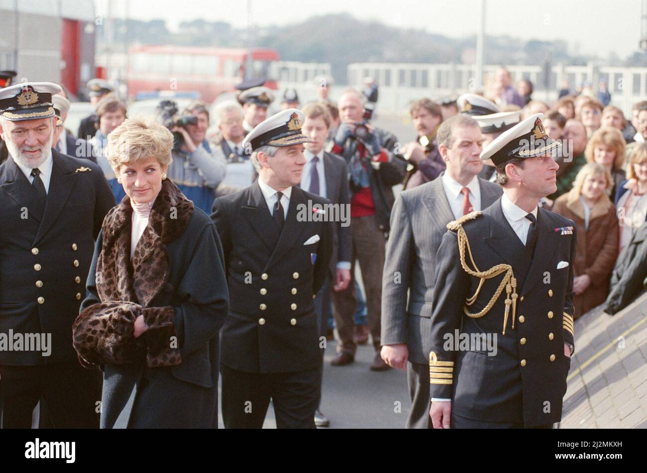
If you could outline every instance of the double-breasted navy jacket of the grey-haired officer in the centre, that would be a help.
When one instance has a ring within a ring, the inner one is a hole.
[[[214,202],[230,294],[221,332],[221,362],[229,368],[287,373],[321,364],[313,298],[329,271],[333,226],[314,213],[298,219],[304,206],[311,212],[308,201],[328,203],[292,187],[281,233],[258,182]]]

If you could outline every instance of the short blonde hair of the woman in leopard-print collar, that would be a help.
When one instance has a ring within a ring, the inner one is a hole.
[[[124,120],[108,135],[105,157],[115,170],[123,163],[135,164],[155,158],[160,165],[171,163],[173,134],[152,115],[137,115]]]

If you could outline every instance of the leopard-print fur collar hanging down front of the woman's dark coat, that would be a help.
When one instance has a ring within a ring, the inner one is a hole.
[[[126,196],[105,216],[102,251],[96,264],[96,289],[102,302],[126,300],[146,308],[168,282],[166,246],[184,233],[193,216],[193,202],[170,180],[164,180],[131,264],[132,213]]]

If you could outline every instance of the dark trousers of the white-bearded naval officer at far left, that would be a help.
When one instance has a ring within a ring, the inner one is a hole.
[[[38,366],[0,366],[0,428],[30,428],[41,417],[54,428],[99,428],[102,375],[78,361]]]

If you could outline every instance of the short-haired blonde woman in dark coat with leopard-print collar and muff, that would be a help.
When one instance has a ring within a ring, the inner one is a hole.
[[[108,136],[126,197],[105,216],[73,328],[81,363],[104,371],[102,428],[217,426],[223,250],[211,219],[166,178],[172,147],[153,117]]]

